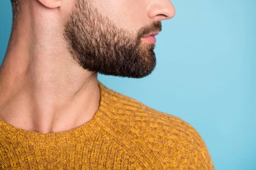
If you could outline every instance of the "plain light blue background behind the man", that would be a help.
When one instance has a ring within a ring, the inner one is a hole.
[[[108,88],[189,122],[216,170],[256,170],[256,1],[172,0],[157,35],[157,67],[143,79],[103,76]],[[0,63],[11,3],[0,0]]]

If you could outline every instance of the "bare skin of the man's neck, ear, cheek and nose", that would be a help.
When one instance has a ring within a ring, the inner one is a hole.
[[[64,132],[90,121],[99,108],[97,72],[74,60],[62,36],[74,1],[32,0],[22,5],[0,66],[0,118],[10,125]],[[116,26],[130,32],[175,15],[169,0],[93,2]]]

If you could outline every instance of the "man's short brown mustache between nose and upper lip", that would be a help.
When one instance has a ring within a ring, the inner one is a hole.
[[[137,37],[141,38],[144,35],[151,34],[157,31],[162,31],[162,23],[159,20],[153,20],[152,23],[147,24],[139,29]]]

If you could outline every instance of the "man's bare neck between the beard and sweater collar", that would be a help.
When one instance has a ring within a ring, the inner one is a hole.
[[[99,107],[97,73],[74,61],[61,36],[37,28],[12,31],[0,66],[0,118],[41,133],[79,127]]]

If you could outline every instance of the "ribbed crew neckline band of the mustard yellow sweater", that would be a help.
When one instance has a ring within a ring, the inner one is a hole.
[[[98,123],[102,122],[103,113],[106,111],[105,100],[108,98],[106,96],[108,88],[99,82],[99,80],[98,85],[100,89],[99,108],[93,115],[93,118],[83,125],[63,132],[40,133],[15,127],[7,122],[4,122],[3,119],[0,118],[0,138],[7,139],[12,142],[27,144],[33,144],[35,142],[45,143],[47,141],[51,144],[62,141],[79,142],[82,139],[90,138],[93,133],[101,129]]]

